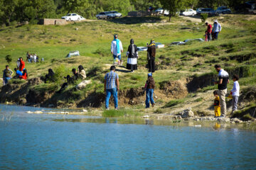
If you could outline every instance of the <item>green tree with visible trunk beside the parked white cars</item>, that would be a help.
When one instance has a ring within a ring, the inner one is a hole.
[[[189,0],[160,0],[164,9],[169,11],[169,21],[171,16],[176,16],[176,13],[188,6]]]

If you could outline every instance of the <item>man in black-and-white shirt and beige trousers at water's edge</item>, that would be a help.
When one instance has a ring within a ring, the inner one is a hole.
[[[214,81],[214,84],[218,84],[218,95],[220,97],[220,118],[224,118],[227,114],[227,108],[225,103],[225,95],[227,94],[227,84],[229,83],[228,72],[221,69],[219,64],[215,64],[215,69],[218,72],[219,81]]]

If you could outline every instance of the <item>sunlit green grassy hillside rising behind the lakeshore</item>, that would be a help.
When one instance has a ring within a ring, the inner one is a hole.
[[[35,25],[4,28],[0,31],[0,67],[4,69],[6,64],[4,57],[11,55],[13,59],[11,69],[13,69],[18,57],[26,58],[27,51],[36,53],[40,58],[45,59],[43,63],[26,63],[29,78],[46,74],[48,68],[53,68],[55,71],[58,69],[61,75],[70,74],[72,68],[77,68],[79,64],[82,64],[88,74],[87,79],[92,79],[92,84],[82,91],[73,91],[73,86],[69,86],[65,90],[65,97],[54,94],[53,98],[57,98],[56,100],[60,103],[86,101],[89,94],[103,93],[103,77],[113,62],[110,43],[114,33],[118,33],[124,52],[131,38],[137,46],[145,46],[146,42],[151,39],[166,45],[164,49],[156,52],[158,70],[154,74],[154,79],[156,95],[159,96],[157,100],[159,106],[164,106],[173,98],[183,98],[182,103],[184,103],[191,96],[195,96],[192,92],[203,93],[215,89],[216,86],[213,86],[212,79],[216,78],[213,68],[216,63],[228,70],[230,76],[240,74],[242,88],[255,86],[255,16],[225,15],[215,18],[218,18],[223,26],[218,41],[191,42],[182,46],[169,46],[169,44],[173,41],[203,38],[206,26],[193,18],[191,21],[188,17],[173,18],[170,23],[165,22],[167,19],[165,17],[146,17],[119,18],[113,21],[85,21],[67,26]],[[208,18],[208,22],[213,23],[215,18]],[[81,56],[65,58],[72,50],[79,50]],[[124,54],[122,58],[125,61]],[[139,52],[138,64],[139,70],[134,73],[127,72],[123,67],[117,68],[120,89],[124,91],[123,93],[127,93],[125,90],[129,93],[131,88],[141,89],[144,85],[147,74],[146,52]],[[174,84],[179,82],[182,86],[188,87],[188,95],[180,89],[168,89],[166,86],[172,86],[168,84],[169,81],[174,81]],[[38,91],[57,90],[63,82],[40,84],[33,88]],[[229,84],[228,89],[231,87],[232,84]],[[175,94],[171,91],[180,92]],[[204,99],[198,99],[196,102],[202,103],[203,101]],[[140,104],[143,102],[141,101]],[[123,106],[127,103],[124,101]]]

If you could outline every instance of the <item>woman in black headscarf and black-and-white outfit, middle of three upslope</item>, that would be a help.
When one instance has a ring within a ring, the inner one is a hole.
[[[138,50],[137,45],[134,45],[134,40],[130,40],[130,45],[127,50],[127,69],[130,69],[131,72],[137,69],[137,58],[138,58]]]

